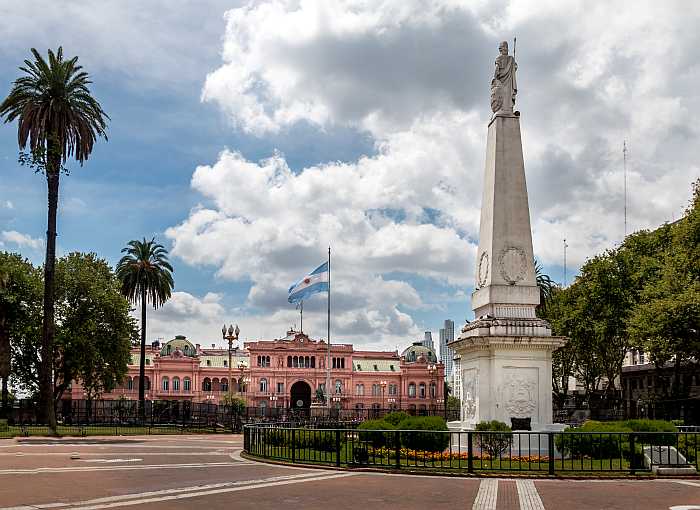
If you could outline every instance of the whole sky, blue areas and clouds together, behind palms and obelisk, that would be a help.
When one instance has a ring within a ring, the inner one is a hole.
[[[700,175],[696,8],[524,4],[33,0],[0,7],[0,90],[32,46],[91,74],[109,142],[68,165],[58,246],[112,263],[133,238],[171,250],[176,293],[149,338],[209,344],[224,321],[282,336],[285,289],[330,244],[336,339],[394,348],[472,315],[501,38],[518,36],[534,248],[555,280],[564,237],[569,274],[622,238],[623,139],[633,230],[678,217]],[[45,182],[16,160],[0,126],[0,249],[38,263]],[[324,307],[305,308],[314,336]]]

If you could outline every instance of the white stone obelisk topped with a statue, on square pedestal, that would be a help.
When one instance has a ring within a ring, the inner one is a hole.
[[[552,423],[552,351],[566,339],[553,337],[538,319],[530,211],[520,138],[520,112],[513,110],[517,64],[508,43],[499,46],[491,82],[486,169],[472,308],[452,343],[461,355],[460,428],[499,420],[516,428],[543,430]]]

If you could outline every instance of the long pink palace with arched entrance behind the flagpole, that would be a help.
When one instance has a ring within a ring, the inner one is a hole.
[[[146,394],[149,400],[218,403],[231,391],[249,406],[309,407],[326,385],[327,344],[305,333],[289,331],[277,340],[246,342],[243,349],[203,348],[184,336],[146,350]],[[419,342],[397,351],[356,351],[351,344],[331,344],[330,395],[341,409],[441,408],[444,366]],[[139,349],[122,385],[103,395],[138,398]],[[72,398],[81,399],[74,384]]]

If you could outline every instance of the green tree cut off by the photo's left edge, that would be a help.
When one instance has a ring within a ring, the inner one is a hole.
[[[7,413],[11,346],[39,337],[41,272],[19,254],[0,252],[0,377],[2,410]]]

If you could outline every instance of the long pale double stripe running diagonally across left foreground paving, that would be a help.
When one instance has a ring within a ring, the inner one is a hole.
[[[211,484],[204,486],[194,486],[179,489],[166,489],[162,491],[151,491],[137,494],[125,494],[122,496],[111,496],[87,501],[77,501],[71,503],[46,503],[38,505],[25,505],[1,508],[0,510],[36,510],[46,508],[62,508],[68,510],[101,510],[105,508],[117,508],[122,506],[143,505],[149,503],[159,503],[163,501],[173,501],[178,499],[197,498],[201,496],[211,496],[214,494],[224,494],[228,492],[238,492],[250,489],[262,489],[265,487],[275,487],[279,485],[291,485],[296,483],[316,482],[321,480],[331,480],[335,478],[346,478],[355,476],[355,473],[333,473],[319,475],[316,473],[303,473],[298,475],[276,476],[261,480],[246,480],[238,482],[226,482],[221,484]]]

